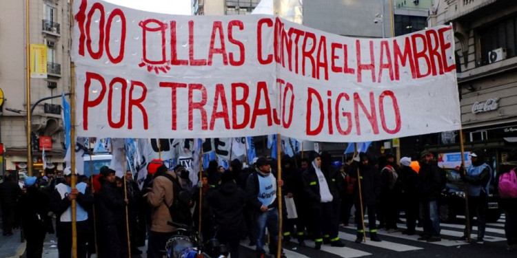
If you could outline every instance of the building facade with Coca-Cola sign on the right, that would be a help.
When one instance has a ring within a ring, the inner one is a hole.
[[[465,150],[494,167],[517,148],[517,2],[434,0],[429,25],[452,24]],[[459,151],[459,133],[429,136],[427,149]]]

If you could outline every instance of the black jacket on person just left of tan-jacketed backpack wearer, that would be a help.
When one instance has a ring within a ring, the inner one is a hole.
[[[99,220],[103,226],[111,226],[125,223],[125,202],[115,183],[110,183],[105,179],[101,181],[101,191],[97,193],[99,208]]]

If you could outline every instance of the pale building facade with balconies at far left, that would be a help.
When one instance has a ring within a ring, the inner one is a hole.
[[[30,0],[30,44],[45,45],[47,78],[30,78],[26,99],[26,1],[0,1],[0,88],[4,103],[0,116],[1,142],[8,171],[25,169],[27,161],[26,116],[37,100],[61,95],[70,89],[70,15],[66,0]],[[61,169],[64,156],[61,98],[45,100],[32,119],[32,162],[41,171],[39,137],[52,139],[48,161]]]

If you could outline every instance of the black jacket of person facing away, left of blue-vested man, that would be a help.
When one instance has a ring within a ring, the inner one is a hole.
[[[244,191],[234,182],[227,182],[219,189],[207,194],[207,202],[214,212],[214,225],[221,226],[221,235],[224,239],[240,238],[244,224]]]

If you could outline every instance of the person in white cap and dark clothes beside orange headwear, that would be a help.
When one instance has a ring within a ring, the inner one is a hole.
[[[402,233],[405,235],[414,235],[416,228],[416,219],[418,218],[418,189],[416,182],[418,174],[411,167],[411,158],[401,158],[401,179],[402,203],[405,204],[406,227]]]

